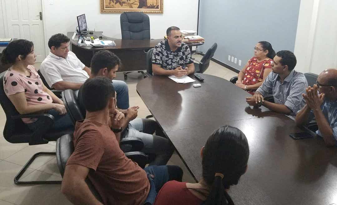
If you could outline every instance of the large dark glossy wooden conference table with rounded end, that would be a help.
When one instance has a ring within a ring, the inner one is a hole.
[[[229,190],[235,204],[337,204],[335,148],[317,136],[294,140],[289,134],[302,130],[293,120],[263,106],[252,109],[241,88],[200,75],[205,80],[197,88],[164,76],[145,78],[136,88],[196,180],[202,146],[215,129],[231,125],[245,133],[250,149],[247,173]]]

